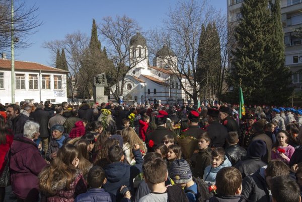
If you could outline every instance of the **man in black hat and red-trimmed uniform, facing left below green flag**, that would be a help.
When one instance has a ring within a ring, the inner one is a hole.
[[[232,118],[232,109],[230,107],[220,106],[218,118],[222,125],[226,127],[228,132],[237,131],[238,136],[241,137],[239,125],[236,120]]]

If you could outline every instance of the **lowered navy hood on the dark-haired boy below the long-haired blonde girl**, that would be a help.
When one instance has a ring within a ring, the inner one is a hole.
[[[104,168],[106,178],[109,182],[120,181],[127,172],[126,165],[123,162],[114,162]]]

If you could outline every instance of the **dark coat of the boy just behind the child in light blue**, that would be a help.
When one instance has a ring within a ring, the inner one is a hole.
[[[211,163],[211,148],[198,150],[191,157],[192,173],[194,177],[203,177],[204,169]]]

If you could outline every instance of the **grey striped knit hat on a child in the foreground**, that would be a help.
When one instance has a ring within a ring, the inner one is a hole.
[[[169,176],[176,184],[184,184],[191,181],[192,172],[188,162],[184,159],[173,161],[169,168]]]

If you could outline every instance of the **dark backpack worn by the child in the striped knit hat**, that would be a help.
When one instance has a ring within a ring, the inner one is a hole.
[[[186,190],[185,192],[193,193],[196,196],[196,202],[205,202],[213,196],[213,194],[209,192],[208,185],[203,179],[200,179],[199,177],[195,178],[193,176],[193,181],[197,185],[197,193],[192,190]]]

